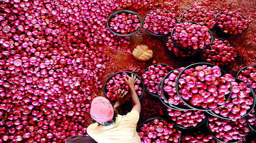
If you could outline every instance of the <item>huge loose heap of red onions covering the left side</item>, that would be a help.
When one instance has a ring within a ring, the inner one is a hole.
[[[129,40],[110,33],[107,17],[153,1],[1,0],[0,142],[64,143],[86,134],[105,47]]]

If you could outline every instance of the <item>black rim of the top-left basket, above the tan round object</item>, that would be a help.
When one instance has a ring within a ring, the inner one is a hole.
[[[131,34],[119,34],[119,33],[116,33],[116,32],[114,32],[114,31],[112,31],[112,30],[110,29],[110,19],[113,18],[113,17],[115,17],[116,14],[123,13],[123,12],[125,12],[125,13],[127,13],[127,14],[133,14],[133,15],[137,15],[137,16],[138,16],[138,19],[139,19],[139,22],[140,22],[140,27],[139,27],[135,32],[133,32],[133,33],[131,33]],[[108,29],[110,30],[110,32],[111,32],[112,34],[116,34],[116,35],[119,35],[119,36],[131,36],[131,35],[133,35],[133,34],[136,34],[136,33],[141,29],[141,27],[142,27],[142,25],[143,25],[143,21],[142,21],[141,17],[140,17],[136,12],[134,12],[134,11],[130,11],[130,10],[119,10],[119,11],[113,12],[113,13],[108,17],[106,24],[107,24],[107,27],[108,27]]]

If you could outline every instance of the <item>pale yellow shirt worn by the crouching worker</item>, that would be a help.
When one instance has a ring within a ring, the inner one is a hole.
[[[132,110],[127,115],[118,115],[116,122],[109,126],[91,124],[87,133],[98,143],[140,143],[136,132],[139,113]]]

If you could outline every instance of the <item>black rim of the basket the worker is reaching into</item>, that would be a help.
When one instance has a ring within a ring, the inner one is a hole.
[[[107,93],[106,83],[107,83],[113,76],[116,76],[117,74],[122,75],[123,72],[127,73],[128,76],[131,76],[131,75],[133,74],[133,75],[136,76],[136,78],[137,78],[138,80],[140,80],[139,86],[142,87],[142,93],[141,93],[141,95],[139,96],[139,100],[141,100],[143,94],[145,93],[145,87],[144,87],[143,81],[140,79],[139,76],[137,76],[137,75],[134,74],[134,73],[128,72],[128,71],[117,72],[117,73],[114,73],[114,74],[112,74],[111,76],[109,76],[109,77],[107,78],[107,80],[105,81],[104,86],[103,86],[103,93],[104,93],[105,97],[108,98],[108,97],[107,97],[107,94],[106,94],[106,93]],[[111,100],[110,100],[110,102],[114,103],[114,101],[111,101]]]

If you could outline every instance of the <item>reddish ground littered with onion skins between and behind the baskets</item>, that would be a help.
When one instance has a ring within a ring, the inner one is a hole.
[[[155,1],[154,8],[141,9],[136,11],[141,17],[151,9],[165,9],[176,14],[179,22],[181,22],[181,14],[187,8],[194,6],[205,6],[209,10],[213,10],[218,13],[222,10],[237,10],[250,20],[248,31],[240,36],[223,36],[217,34],[215,30],[211,30],[214,37],[223,38],[229,40],[234,45],[236,51],[238,51],[238,57],[236,62],[229,67],[223,67],[223,69],[236,75],[238,70],[247,65],[256,65],[256,1],[254,0],[171,0]],[[132,10],[132,9],[130,9]],[[153,59],[148,62],[139,62],[135,60],[131,51],[136,45],[145,44],[154,52]],[[130,43],[126,45],[128,50],[123,50],[120,46],[118,50],[109,49],[107,51],[108,56],[111,57],[109,65],[102,78],[104,81],[112,73],[118,71],[131,71],[141,76],[146,67],[152,65],[152,61],[156,63],[165,63],[174,68],[185,67],[191,63],[202,62],[198,55],[191,58],[176,58],[165,48],[165,37],[155,37],[148,34],[145,29],[141,29],[137,34],[131,36]],[[100,91],[101,93],[101,91]],[[141,101],[142,109],[140,113],[139,124],[148,118],[164,117],[165,108],[164,105],[148,93],[145,93]]]

